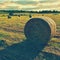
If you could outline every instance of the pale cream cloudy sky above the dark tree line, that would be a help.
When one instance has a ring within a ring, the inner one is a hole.
[[[60,11],[60,0],[0,0],[0,10]]]

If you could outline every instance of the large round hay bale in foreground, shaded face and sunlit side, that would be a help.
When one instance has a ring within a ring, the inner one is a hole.
[[[24,33],[27,39],[47,43],[56,33],[56,24],[48,17],[32,18],[26,23]]]

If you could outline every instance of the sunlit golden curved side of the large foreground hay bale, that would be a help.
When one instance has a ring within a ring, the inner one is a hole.
[[[45,20],[48,25],[50,26],[50,29],[51,29],[51,37],[55,36],[56,35],[56,23],[54,22],[53,19],[49,18],[49,17],[40,17],[42,18],[43,20]]]

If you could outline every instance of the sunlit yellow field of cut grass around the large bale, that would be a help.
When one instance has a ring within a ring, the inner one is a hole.
[[[31,18],[38,18],[40,16],[52,18],[57,25],[57,35],[60,36],[60,14],[23,14],[22,16],[11,16],[8,18],[8,14],[0,14],[0,40],[5,42],[5,47],[11,46],[16,43],[20,43],[26,39],[24,35],[24,26],[26,22]],[[60,38],[52,38],[49,41],[49,45],[52,47],[60,47]],[[1,46],[0,49],[5,48]],[[48,46],[44,51],[49,51]],[[55,53],[55,52],[53,52]],[[59,51],[57,52],[59,54]]]

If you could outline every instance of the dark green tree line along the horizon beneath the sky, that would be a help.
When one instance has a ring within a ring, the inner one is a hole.
[[[60,13],[56,10],[42,10],[42,11],[23,11],[23,10],[0,10],[0,13]]]

